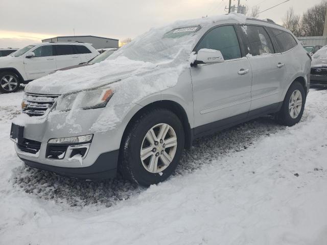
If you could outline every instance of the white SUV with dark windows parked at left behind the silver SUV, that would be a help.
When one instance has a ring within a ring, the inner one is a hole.
[[[0,58],[0,91],[16,92],[20,83],[87,62],[97,55],[99,52],[89,43],[42,42],[26,46]]]

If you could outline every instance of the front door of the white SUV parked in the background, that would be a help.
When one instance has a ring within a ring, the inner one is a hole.
[[[35,57],[24,58],[24,68],[28,80],[34,80],[48,75],[56,70],[56,60],[53,56],[53,45],[42,45],[31,50]]]

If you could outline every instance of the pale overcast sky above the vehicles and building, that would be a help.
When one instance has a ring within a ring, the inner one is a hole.
[[[241,0],[261,11],[285,0]],[[225,14],[228,0],[0,0],[0,47],[22,47],[55,36],[134,38],[178,19]],[[281,24],[288,8],[302,14],[321,0],[290,0],[260,14]],[[237,5],[232,0],[232,5]]]

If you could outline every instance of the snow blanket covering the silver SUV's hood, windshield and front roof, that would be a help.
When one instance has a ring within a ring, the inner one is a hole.
[[[107,60],[88,67],[57,71],[29,83],[25,91],[41,94],[62,94],[82,90],[116,80],[127,80],[140,86],[153,85],[160,91],[174,86],[181,72],[190,67],[192,49],[213,23],[235,19],[244,23],[246,17],[228,14],[211,18],[176,21],[165,27],[153,28],[113,53]],[[182,27],[197,27],[197,32],[179,38],[164,37],[169,31]],[[191,56],[190,56],[191,55]],[[115,85],[112,85],[115,86]],[[122,86],[120,86],[122,89]],[[128,88],[126,88],[128,89]],[[157,92],[157,91],[151,92]]]

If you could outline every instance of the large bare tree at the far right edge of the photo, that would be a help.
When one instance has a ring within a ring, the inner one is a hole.
[[[301,34],[303,36],[322,36],[326,8],[327,2],[324,0],[303,14],[300,24]]]

